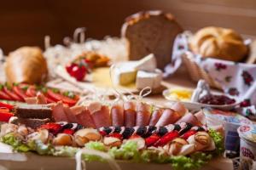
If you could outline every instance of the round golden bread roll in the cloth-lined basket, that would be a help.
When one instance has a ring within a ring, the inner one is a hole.
[[[189,39],[189,48],[202,57],[230,61],[241,61],[247,56],[248,48],[242,37],[231,29],[206,27]]]

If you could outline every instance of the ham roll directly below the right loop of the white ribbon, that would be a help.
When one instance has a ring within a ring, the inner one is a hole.
[[[150,121],[150,105],[138,102],[136,105],[136,126],[147,126]]]

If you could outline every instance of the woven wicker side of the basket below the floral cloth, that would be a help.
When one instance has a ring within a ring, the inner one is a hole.
[[[185,53],[182,55],[182,59],[193,81],[198,82],[200,79],[204,79],[212,88],[222,89],[221,85],[195,62],[192,54]]]

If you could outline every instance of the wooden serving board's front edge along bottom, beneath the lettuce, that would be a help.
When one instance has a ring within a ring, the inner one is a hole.
[[[172,170],[169,164],[136,163],[131,161],[117,161],[122,170],[147,169],[147,170]],[[76,168],[76,161],[68,157],[38,156],[33,153],[0,153],[0,169],[5,170],[71,170]],[[86,162],[87,170],[111,170],[108,163],[101,161]],[[232,170],[233,164],[230,159],[216,158],[209,162],[204,170]]]

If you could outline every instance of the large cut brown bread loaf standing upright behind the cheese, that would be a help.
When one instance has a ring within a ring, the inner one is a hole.
[[[121,34],[127,40],[129,59],[142,59],[153,53],[157,67],[164,69],[172,60],[174,39],[182,31],[172,14],[146,11],[128,17]]]

